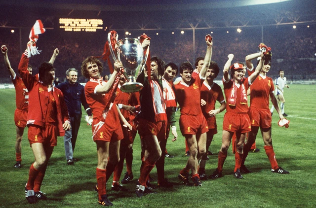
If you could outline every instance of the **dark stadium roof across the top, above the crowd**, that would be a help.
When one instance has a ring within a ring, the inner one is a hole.
[[[315,8],[315,0],[0,0],[0,27],[29,28],[42,19],[54,28],[59,18],[103,19],[113,30],[313,24]]]

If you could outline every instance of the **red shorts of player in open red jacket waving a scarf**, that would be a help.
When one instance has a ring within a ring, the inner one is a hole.
[[[44,146],[57,145],[58,128],[53,124],[45,124],[42,128],[36,125],[29,125],[28,138],[30,145],[42,143]]]

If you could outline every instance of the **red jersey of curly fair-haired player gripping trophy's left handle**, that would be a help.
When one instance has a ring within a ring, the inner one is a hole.
[[[98,124],[100,121],[104,121],[102,113],[106,107],[107,100],[105,94],[96,94],[96,87],[102,84],[105,84],[105,81],[90,78],[84,86],[85,99],[92,110],[92,126]],[[116,130],[118,126],[120,127],[116,104],[112,104],[110,107],[109,112],[106,115],[105,124],[111,131]]]

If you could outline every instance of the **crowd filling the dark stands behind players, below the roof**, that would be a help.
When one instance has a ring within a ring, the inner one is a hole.
[[[2,30],[2,29],[1,29]],[[260,29],[261,31],[261,29]],[[79,32],[80,33],[80,32]],[[46,31],[40,35],[38,41],[40,55],[31,59],[31,65],[34,65],[37,72],[37,63],[49,61],[53,50],[58,48],[60,56],[56,59],[54,67],[56,68],[56,77],[64,80],[65,71],[74,67],[80,69],[82,61],[88,56],[101,56],[104,43],[106,42],[107,32],[98,33],[67,33],[55,30]],[[171,33],[147,34],[151,40],[151,54],[162,58],[166,63],[174,62],[180,64],[184,61],[194,63],[194,59],[203,56],[206,51],[204,36],[210,33],[206,30],[196,31],[195,54],[193,53],[192,32],[186,32],[184,35],[171,35]],[[62,34],[62,35],[61,35]],[[124,38],[121,31],[118,38]],[[137,37],[141,34],[133,32],[131,37]],[[24,35],[27,41],[27,36]],[[212,60],[216,61],[220,68],[224,67],[227,61],[227,55],[233,53],[234,61],[244,62],[245,56],[256,52],[259,43],[262,41],[261,33],[251,34],[251,30],[244,34],[236,32],[226,33],[226,31],[217,31],[212,34],[214,37]],[[305,30],[303,33],[285,31],[282,29],[270,28],[264,32],[264,43],[272,48],[272,68],[269,75],[277,77],[278,70],[284,69],[288,80],[316,79],[316,44],[313,29]],[[9,48],[9,59],[13,69],[17,71],[18,63],[21,57],[19,35],[9,33],[0,34],[1,44]],[[25,43],[22,42],[22,52]],[[195,55],[195,57],[194,57]],[[254,63],[256,64],[256,63]],[[0,59],[0,66],[4,67],[4,62]],[[109,74],[107,64],[104,65],[104,74]],[[220,76],[222,75],[220,71]],[[102,75],[104,75],[102,74]],[[220,77],[219,76],[219,77]],[[79,73],[79,81],[86,80]],[[0,82],[10,82],[7,73],[0,74]]]

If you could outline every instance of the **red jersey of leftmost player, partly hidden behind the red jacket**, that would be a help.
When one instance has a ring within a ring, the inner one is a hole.
[[[12,83],[15,88],[15,104],[19,110],[28,110],[29,104],[29,91],[24,85],[22,79],[16,74],[12,79]]]

